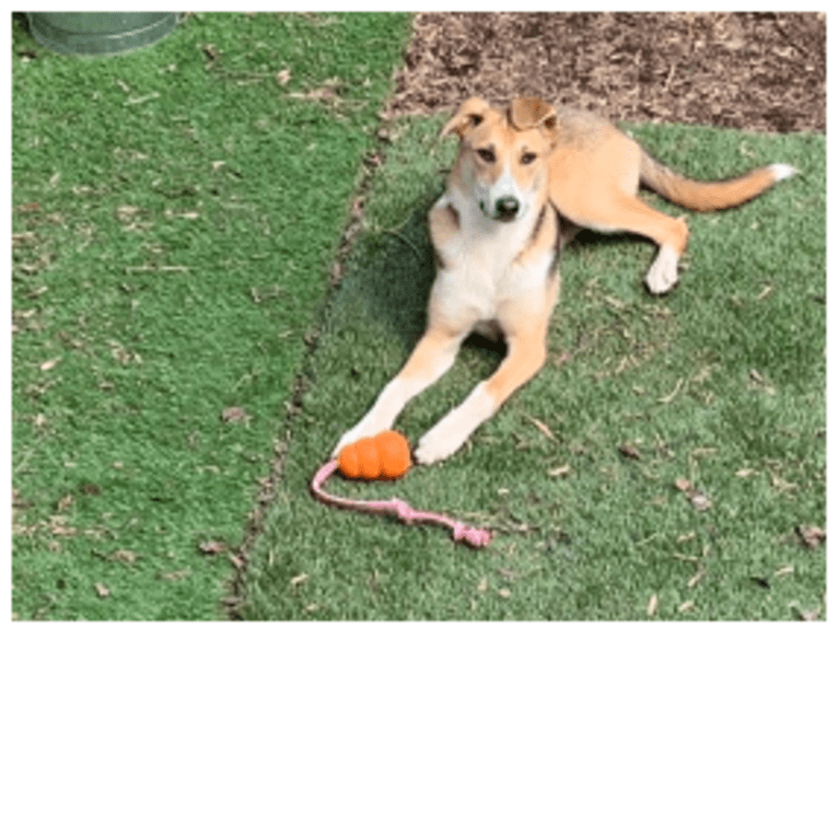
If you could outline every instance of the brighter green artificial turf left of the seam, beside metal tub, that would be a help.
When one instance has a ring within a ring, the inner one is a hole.
[[[408,21],[200,14],[108,59],[13,21],[18,618],[222,615]]]

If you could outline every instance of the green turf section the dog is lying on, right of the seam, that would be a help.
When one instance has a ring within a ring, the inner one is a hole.
[[[825,547],[798,533],[825,527],[823,136],[637,128],[699,177],[769,162],[803,175],[743,208],[692,216],[682,282],[664,299],[642,286],[650,243],[583,236],[562,258],[550,361],[467,449],[395,485],[330,484],[490,525],[487,549],[311,499],[313,472],[422,330],[424,214],[454,156],[439,127],[401,123],[375,174],[280,497],[249,557],[244,616],[824,618]],[[416,441],[499,357],[466,347],[398,427]]]

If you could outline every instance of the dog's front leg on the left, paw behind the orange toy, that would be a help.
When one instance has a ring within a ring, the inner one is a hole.
[[[465,334],[429,326],[398,375],[384,387],[363,419],[340,438],[333,456],[358,440],[392,428],[405,405],[451,369],[464,338]]]

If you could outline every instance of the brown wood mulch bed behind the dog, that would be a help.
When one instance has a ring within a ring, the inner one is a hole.
[[[516,95],[612,119],[826,130],[824,13],[420,13],[387,116]]]

